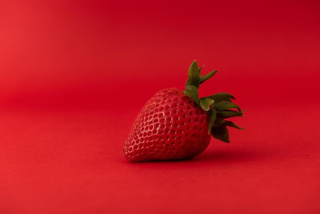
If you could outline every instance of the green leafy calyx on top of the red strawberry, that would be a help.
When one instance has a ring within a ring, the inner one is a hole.
[[[214,138],[228,143],[230,141],[227,126],[234,127],[239,130],[244,129],[236,125],[234,122],[225,119],[243,116],[243,112],[245,110],[241,111],[240,107],[232,102],[232,100],[235,100],[235,97],[229,93],[220,92],[208,97],[199,98],[198,89],[200,84],[207,81],[217,73],[217,70],[215,70],[201,76],[200,71],[202,68],[203,66],[200,68],[198,67],[196,60],[191,63],[188,72],[188,80],[186,82],[186,90],[184,93],[190,99],[195,101],[203,111],[209,112],[210,122],[208,134],[211,133]]]

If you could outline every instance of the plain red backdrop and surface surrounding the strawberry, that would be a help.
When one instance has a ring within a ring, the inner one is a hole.
[[[320,213],[318,1],[1,1],[0,213]],[[128,163],[193,59],[247,109],[231,143]]]

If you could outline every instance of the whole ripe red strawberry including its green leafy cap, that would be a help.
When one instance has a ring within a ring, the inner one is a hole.
[[[124,156],[129,162],[192,158],[208,147],[211,135],[229,142],[227,126],[243,129],[225,120],[242,116],[245,111],[232,102],[233,95],[222,92],[198,97],[200,84],[217,72],[201,76],[201,69],[194,60],[186,90],[164,89],[147,101],[124,143]]]

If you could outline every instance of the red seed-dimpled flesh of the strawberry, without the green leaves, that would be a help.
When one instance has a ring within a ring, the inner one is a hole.
[[[199,155],[210,143],[209,114],[183,91],[157,92],[135,119],[124,145],[130,162],[178,160]]]

